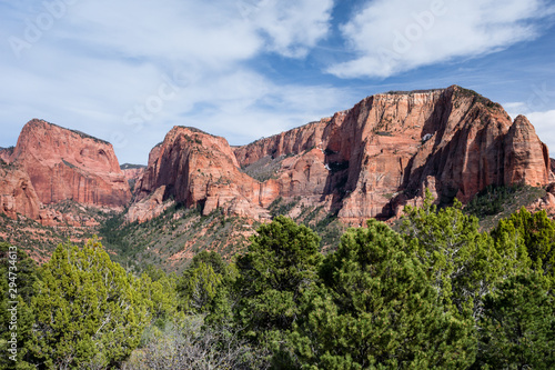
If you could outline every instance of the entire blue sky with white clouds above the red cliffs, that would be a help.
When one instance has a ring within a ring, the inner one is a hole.
[[[145,163],[175,124],[244,144],[460,84],[555,157],[554,26],[543,0],[0,0],[0,147],[41,118]]]

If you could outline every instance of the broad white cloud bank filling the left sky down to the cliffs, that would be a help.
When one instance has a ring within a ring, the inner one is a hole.
[[[65,8],[52,17],[46,3]],[[329,114],[344,101],[337,90],[276,83],[249,63],[262,53],[304,57],[327,34],[332,6],[331,0],[0,3],[0,34],[27,42],[19,58],[9,43],[0,44],[6,57],[0,146],[14,144],[21,127],[36,117],[111,141],[121,162],[145,162],[173,124],[246,143]],[[29,39],[29,24],[44,14],[52,23]]]

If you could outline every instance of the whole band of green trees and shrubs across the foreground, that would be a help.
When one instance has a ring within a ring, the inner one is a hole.
[[[2,369],[553,369],[555,222],[524,208],[481,231],[453,207],[369,220],[337,250],[279,216],[231,263],[201,251],[141,276],[97,239],[37,267],[0,244]],[[12,333],[16,361],[9,358]]]

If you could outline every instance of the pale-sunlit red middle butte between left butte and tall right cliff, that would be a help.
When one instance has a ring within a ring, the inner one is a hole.
[[[153,193],[158,193],[154,199]],[[132,222],[159,214],[163,209],[158,204],[168,199],[186,207],[200,207],[203,214],[221,209],[255,219],[266,218],[264,207],[276,196],[271,181],[261,183],[240,171],[225,139],[174,127],[151,151],[149,167],[137,183],[137,202],[127,213],[127,220]]]

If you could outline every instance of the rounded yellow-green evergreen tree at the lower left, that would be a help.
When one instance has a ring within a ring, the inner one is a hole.
[[[114,366],[139,344],[149,302],[98,240],[58,246],[40,274],[31,299],[40,368]]]

